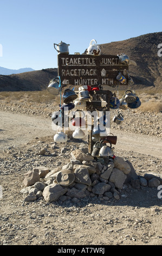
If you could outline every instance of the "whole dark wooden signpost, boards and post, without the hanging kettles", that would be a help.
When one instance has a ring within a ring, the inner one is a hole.
[[[89,92],[91,99],[87,101],[87,111],[102,111],[103,108],[109,111],[109,100],[113,93],[107,88],[122,86],[122,83],[116,79],[119,74],[126,78],[123,84],[128,85],[128,65],[120,64],[118,56],[115,55],[58,54],[57,63],[61,84],[104,87],[104,90]],[[91,130],[88,131],[90,154],[93,144]]]

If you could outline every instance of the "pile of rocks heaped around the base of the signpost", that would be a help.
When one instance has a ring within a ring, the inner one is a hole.
[[[63,174],[66,175],[66,184],[58,178]],[[119,200],[122,189],[127,184],[137,189],[140,186],[158,187],[162,184],[162,179],[153,175],[138,176],[131,162],[122,157],[95,160],[87,153],[87,149],[77,149],[71,152],[71,159],[63,167],[49,170],[40,166],[25,174],[25,188],[21,193],[27,194],[25,202],[38,198],[44,198],[46,202],[72,198],[77,203],[82,198],[96,195],[103,200]]]

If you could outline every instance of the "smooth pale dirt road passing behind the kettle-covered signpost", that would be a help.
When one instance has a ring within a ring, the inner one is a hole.
[[[21,145],[35,137],[51,135],[51,138],[53,138],[53,135],[56,133],[52,130],[50,117],[30,117],[29,115],[1,111],[0,121],[1,148]],[[158,157],[162,160],[161,138],[114,129],[111,129],[111,132],[118,137],[115,145],[116,150],[133,151],[135,153]]]

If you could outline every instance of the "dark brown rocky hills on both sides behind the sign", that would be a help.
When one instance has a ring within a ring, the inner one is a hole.
[[[124,41],[101,44],[102,54],[125,53],[137,66],[129,66],[133,87],[162,87],[162,57],[158,54],[162,44],[162,32],[140,35]],[[161,47],[162,48],[162,47]],[[1,74],[1,71],[0,71]],[[0,75],[0,91],[42,90],[57,76],[57,69],[42,69],[21,74]]]

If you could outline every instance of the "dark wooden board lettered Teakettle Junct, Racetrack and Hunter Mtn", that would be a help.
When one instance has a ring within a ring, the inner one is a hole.
[[[122,83],[116,80],[120,72],[126,78],[124,85],[128,85],[128,65],[119,64],[119,58],[115,55],[58,54],[57,62],[62,84],[122,86]]]

